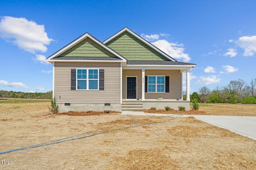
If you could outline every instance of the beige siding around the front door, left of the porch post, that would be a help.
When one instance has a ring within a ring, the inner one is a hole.
[[[141,70],[123,70],[123,99],[126,99],[126,76],[137,76],[137,99],[141,99]]]

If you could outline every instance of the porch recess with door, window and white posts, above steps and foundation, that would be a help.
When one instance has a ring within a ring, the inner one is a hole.
[[[187,101],[190,101],[189,69],[122,69],[122,99],[183,100],[183,72],[186,75]]]

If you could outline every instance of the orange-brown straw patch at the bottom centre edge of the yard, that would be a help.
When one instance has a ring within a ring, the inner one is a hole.
[[[179,163],[159,149],[131,150],[116,157],[108,169],[180,169]]]

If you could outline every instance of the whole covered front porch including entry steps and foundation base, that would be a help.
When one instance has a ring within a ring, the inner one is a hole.
[[[122,67],[123,110],[141,110],[170,106],[189,109],[189,70],[191,68],[167,66]],[[183,73],[186,77],[187,100],[183,100]]]

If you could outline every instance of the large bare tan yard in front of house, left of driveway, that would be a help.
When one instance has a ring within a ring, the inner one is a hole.
[[[0,169],[256,167],[256,141],[192,117],[70,116],[49,114],[48,105],[0,104],[0,152],[86,131],[76,137],[90,137],[2,154],[0,160],[13,160],[13,165],[0,164]]]

